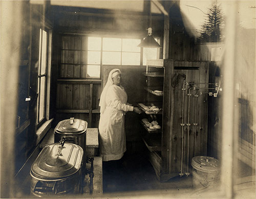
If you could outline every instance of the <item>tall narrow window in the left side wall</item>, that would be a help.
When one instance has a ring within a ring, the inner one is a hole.
[[[37,125],[40,126],[46,120],[48,98],[48,52],[49,31],[40,29],[38,79],[37,79]],[[50,60],[49,60],[50,61]]]

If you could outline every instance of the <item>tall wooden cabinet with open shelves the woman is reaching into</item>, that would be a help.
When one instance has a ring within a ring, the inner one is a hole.
[[[144,144],[150,151],[148,158],[155,169],[158,180],[167,181],[178,176],[183,166],[191,173],[192,168],[191,166],[187,168],[186,163],[191,162],[191,159],[195,155],[206,154],[208,104],[204,102],[207,101],[208,96],[201,95],[198,103],[196,101],[189,101],[189,95],[186,95],[184,99],[181,100],[180,96],[183,94],[181,88],[184,85],[184,78],[178,78],[178,76],[181,75],[185,77],[185,81],[189,83],[198,82],[207,84],[209,79],[209,62],[162,59],[147,60],[146,65],[146,71],[143,73],[145,78],[144,90],[146,90],[143,105],[151,107],[153,106],[152,104],[154,104],[164,111],[157,113],[161,113],[161,115],[144,114],[144,117],[147,117],[146,119],[148,119],[149,122],[152,120],[159,121],[161,129],[158,130],[158,133],[156,133],[154,129],[151,130],[146,126],[146,120],[144,120],[145,123],[142,123],[142,120],[140,121],[145,129],[141,127],[143,131],[140,131],[140,133],[142,134],[141,137]],[[173,82],[175,86],[172,85]],[[186,87],[185,90],[187,89],[189,88]],[[155,104],[154,102],[158,103]],[[177,141],[177,138],[182,134],[180,122],[177,121],[180,121],[182,107],[187,106],[188,103],[190,103],[189,112],[184,111],[183,117],[188,118],[190,114],[191,121],[196,119],[200,121],[198,122],[198,128],[201,128],[201,131],[199,137],[194,137],[197,141],[196,144],[188,145],[188,143],[195,140],[192,140],[193,138],[191,137],[189,140],[186,134],[184,134],[182,138],[185,140],[185,145],[189,147],[189,151],[196,151],[197,154],[189,153],[188,150],[185,150],[184,153],[180,153],[184,143],[180,140]],[[150,125],[148,124],[148,126]],[[188,161],[182,161],[184,159]]]

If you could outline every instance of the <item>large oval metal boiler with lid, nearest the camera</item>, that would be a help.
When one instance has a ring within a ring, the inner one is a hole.
[[[30,169],[30,190],[36,196],[79,193],[83,150],[72,143],[45,146]]]

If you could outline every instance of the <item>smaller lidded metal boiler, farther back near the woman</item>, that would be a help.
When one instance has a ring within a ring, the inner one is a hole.
[[[81,146],[85,153],[86,131],[87,121],[75,119],[74,117],[62,120],[54,129],[54,142],[59,142],[61,139],[64,139],[66,142]]]

